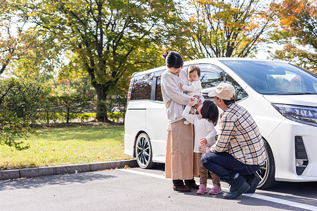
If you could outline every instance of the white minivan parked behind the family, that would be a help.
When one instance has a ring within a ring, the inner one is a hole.
[[[235,87],[237,103],[256,121],[268,156],[258,188],[279,181],[317,181],[317,76],[287,62],[207,58],[184,62],[201,69],[202,94],[219,83]],[[141,168],[165,162],[167,118],[160,90],[166,66],[134,73],[125,116],[124,153]],[[220,110],[219,110],[220,111]],[[222,111],[220,111],[222,112]],[[220,113],[221,114],[221,113]]]

